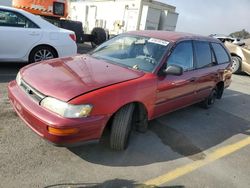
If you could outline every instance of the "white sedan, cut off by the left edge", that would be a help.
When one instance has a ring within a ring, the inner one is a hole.
[[[77,53],[75,33],[24,10],[0,6],[0,61],[37,62]]]

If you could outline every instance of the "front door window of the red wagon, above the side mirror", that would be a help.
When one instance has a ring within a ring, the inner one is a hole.
[[[177,44],[170,55],[167,65],[179,65],[183,70],[193,69],[193,45],[191,41]]]

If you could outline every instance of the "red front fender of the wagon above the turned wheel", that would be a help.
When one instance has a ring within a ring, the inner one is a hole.
[[[92,104],[91,115],[113,115],[122,106],[132,103],[142,103],[150,119],[153,115],[156,97],[156,76],[145,74],[143,77],[114,84],[83,94],[69,101],[71,104]]]

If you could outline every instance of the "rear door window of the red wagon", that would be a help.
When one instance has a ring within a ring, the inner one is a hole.
[[[197,68],[212,66],[212,53],[208,42],[194,41]]]

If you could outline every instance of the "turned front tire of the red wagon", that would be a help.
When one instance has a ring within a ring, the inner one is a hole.
[[[132,130],[134,108],[134,104],[128,104],[115,114],[110,134],[111,149],[119,151],[127,148]]]

